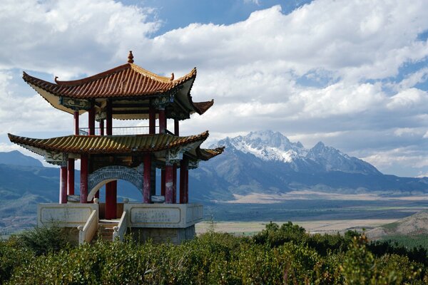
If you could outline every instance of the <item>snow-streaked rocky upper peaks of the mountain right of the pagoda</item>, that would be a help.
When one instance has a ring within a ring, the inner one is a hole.
[[[225,145],[230,151],[236,150],[254,155],[265,161],[284,162],[296,172],[340,171],[360,174],[381,174],[374,166],[350,157],[334,147],[318,142],[307,150],[300,142],[290,142],[279,132],[264,130],[225,138],[217,145]]]

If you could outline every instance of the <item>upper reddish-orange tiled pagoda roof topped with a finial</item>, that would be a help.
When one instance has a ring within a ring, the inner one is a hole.
[[[59,110],[85,113],[95,104],[96,113],[105,112],[107,100],[113,104],[113,118],[146,119],[150,104],[163,104],[167,118],[183,120],[190,114],[202,115],[213,100],[193,102],[190,90],[196,78],[196,68],[180,78],[158,76],[133,63],[128,63],[75,81],[55,83],[41,80],[24,72],[23,78],[51,105]],[[102,115],[101,115],[102,117]]]

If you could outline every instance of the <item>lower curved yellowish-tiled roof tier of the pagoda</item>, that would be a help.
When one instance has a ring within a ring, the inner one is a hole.
[[[68,135],[57,138],[37,139],[9,135],[9,140],[45,157],[46,162],[61,164],[64,155],[116,155],[153,153],[161,160],[180,160],[183,155],[192,160],[209,160],[223,152],[224,147],[200,148],[208,138],[208,131],[199,135],[178,137],[169,134],[155,135]]]

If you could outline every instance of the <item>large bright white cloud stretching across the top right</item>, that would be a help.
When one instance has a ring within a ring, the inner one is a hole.
[[[284,61],[300,76],[323,68],[351,81],[384,78],[403,62],[427,56],[427,43],[414,41],[428,26],[423,7],[424,1],[320,0],[284,15],[274,6],[230,26],[170,31],[154,39],[153,50],[164,52],[155,58],[210,68]]]

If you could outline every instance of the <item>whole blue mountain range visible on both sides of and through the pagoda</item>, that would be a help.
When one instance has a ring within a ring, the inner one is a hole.
[[[212,205],[270,195],[275,202],[278,195],[305,191],[384,196],[428,192],[427,177],[383,175],[370,163],[322,142],[307,149],[271,130],[210,145],[217,146],[225,146],[222,155],[189,172],[190,201]],[[0,152],[0,228],[34,224],[37,204],[58,201],[58,176],[58,168],[44,167],[21,152]],[[76,173],[76,185],[78,177]],[[118,195],[141,200],[141,193],[128,182],[119,181]]]

